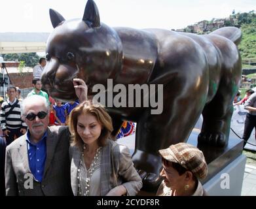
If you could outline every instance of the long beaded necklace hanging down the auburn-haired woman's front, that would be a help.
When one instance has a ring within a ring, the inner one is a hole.
[[[81,153],[81,158],[80,158],[80,162],[79,162],[79,169],[77,170],[77,180],[78,180],[78,186],[79,186],[79,194],[78,195],[84,195],[84,196],[88,196],[89,195],[89,191],[90,191],[90,180],[92,178],[92,174],[95,170],[95,167],[96,167],[96,163],[98,161],[98,158],[99,158],[99,155],[100,155],[100,150],[101,150],[101,147],[99,147],[97,150],[96,150],[96,153],[94,155],[94,159],[92,160],[92,163],[90,165],[90,168],[87,170],[87,174],[88,176],[86,177],[86,181],[85,181],[85,193],[81,193],[81,175],[80,175],[80,172],[81,172],[81,167],[82,167],[82,158],[84,158],[84,150],[86,149],[86,146],[84,144],[84,146],[82,147],[82,153]]]

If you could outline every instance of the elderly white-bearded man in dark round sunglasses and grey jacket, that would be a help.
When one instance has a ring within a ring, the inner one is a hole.
[[[74,79],[73,84],[79,100],[86,100],[84,82]],[[73,195],[68,127],[48,127],[48,102],[39,95],[24,99],[22,118],[26,135],[7,146],[6,195]]]

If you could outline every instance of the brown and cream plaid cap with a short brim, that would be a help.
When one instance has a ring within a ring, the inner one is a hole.
[[[164,159],[179,163],[185,169],[190,170],[197,178],[206,178],[208,173],[206,159],[204,159],[202,151],[198,150],[195,146],[179,143],[158,152]]]

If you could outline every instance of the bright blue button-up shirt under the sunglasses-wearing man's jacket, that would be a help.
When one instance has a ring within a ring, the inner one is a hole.
[[[34,144],[30,140],[30,133],[27,130],[26,141],[27,141],[27,155],[29,168],[35,177],[35,179],[39,182],[43,180],[43,174],[45,171],[45,160],[46,160],[46,138],[47,131],[41,138],[37,144]]]

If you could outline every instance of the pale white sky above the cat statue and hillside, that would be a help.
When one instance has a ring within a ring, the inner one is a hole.
[[[110,26],[179,29],[200,20],[256,10],[256,0],[95,0],[101,22]],[[81,18],[86,0],[1,0],[1,32],[51,32],[49,8]]]

